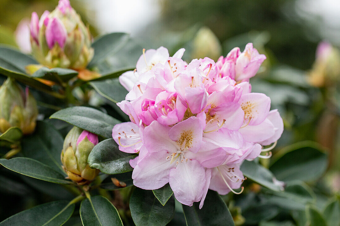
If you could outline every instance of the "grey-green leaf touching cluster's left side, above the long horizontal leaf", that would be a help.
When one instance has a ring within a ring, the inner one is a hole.
[[[125,96],[128,94],[128,91],[119,83],[118,78],[104,81],[91,81],[89,84],[100,95],[115,103],[125,100]]]

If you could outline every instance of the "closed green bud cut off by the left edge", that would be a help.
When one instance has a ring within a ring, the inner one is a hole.
[[[37,115],[37,103],[28,88],[23,92],[15,80],[8,77],[0,87],[0,131],[16,126],[23,134],[30,134],[35,129]]]

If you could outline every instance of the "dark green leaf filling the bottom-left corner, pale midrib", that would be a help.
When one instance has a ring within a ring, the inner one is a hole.
[[[17,213],[3,222],[0,226],[6,225],[25,225],[25,226],[54,226],[63,225],[72,215],[74,204],[68,204],[68,201],[54,201],[45,203],[32,209],[24,210]]]

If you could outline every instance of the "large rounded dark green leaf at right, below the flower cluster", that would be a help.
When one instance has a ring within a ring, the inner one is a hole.
[[[300,142],[278,152],[270,170],[278,180],[317,180],[327,168],[327,154],[313,142]]]

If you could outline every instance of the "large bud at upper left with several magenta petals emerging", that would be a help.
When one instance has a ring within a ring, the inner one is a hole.
[[[32,13],[32,54],[50,68],[85,69],[92,59],[91,37],[69,0],[60,0],[54,11],[38,15]]]

